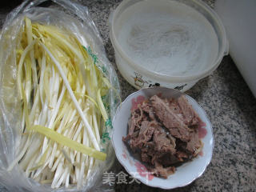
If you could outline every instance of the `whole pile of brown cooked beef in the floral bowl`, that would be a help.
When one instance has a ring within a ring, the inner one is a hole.
[[[156,176],[174,174],[175,165],[195,157],[202,149],[198,114],[184,96],[154,95],[131,111],[128,134],[122,138]]]

